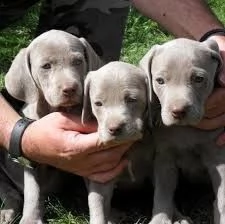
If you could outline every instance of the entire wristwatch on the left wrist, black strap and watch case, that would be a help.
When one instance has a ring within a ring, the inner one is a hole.
[[[23,117],[16,122],[11,133],[8,150],[9,157],[14,162],[20,163],[22,166],[29,168],[34,168],[33,162],[23,156],[21,139],[25,129],[34,121],[35,120]]]

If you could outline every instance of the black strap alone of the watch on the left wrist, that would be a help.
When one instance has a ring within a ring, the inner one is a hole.
[[[9,142],[9,155],[13,159],[18,159],[22,157],[22,149],[21,149],[21,139],[25,129],[31,124],[34,120],[29,118],[21,118],[18,120],[13,127],[10,142]]]

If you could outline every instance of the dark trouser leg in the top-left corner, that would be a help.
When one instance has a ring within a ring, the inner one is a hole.
[[[2,0],[0,1],[0,30],[8,27],[24,16],[27,9],[39,0]]]

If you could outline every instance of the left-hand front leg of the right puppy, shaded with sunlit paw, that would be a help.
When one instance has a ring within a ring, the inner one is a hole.
[[[154,163],[154,204],[150,224],[172,224],[177,168],[173,155],[157,153]]]

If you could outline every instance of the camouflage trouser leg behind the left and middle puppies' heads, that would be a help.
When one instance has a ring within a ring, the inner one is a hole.
[[[126,0],[46,0],[37,35],[64,30],[86,38],[105,62],[118,60],[128,10]]]

